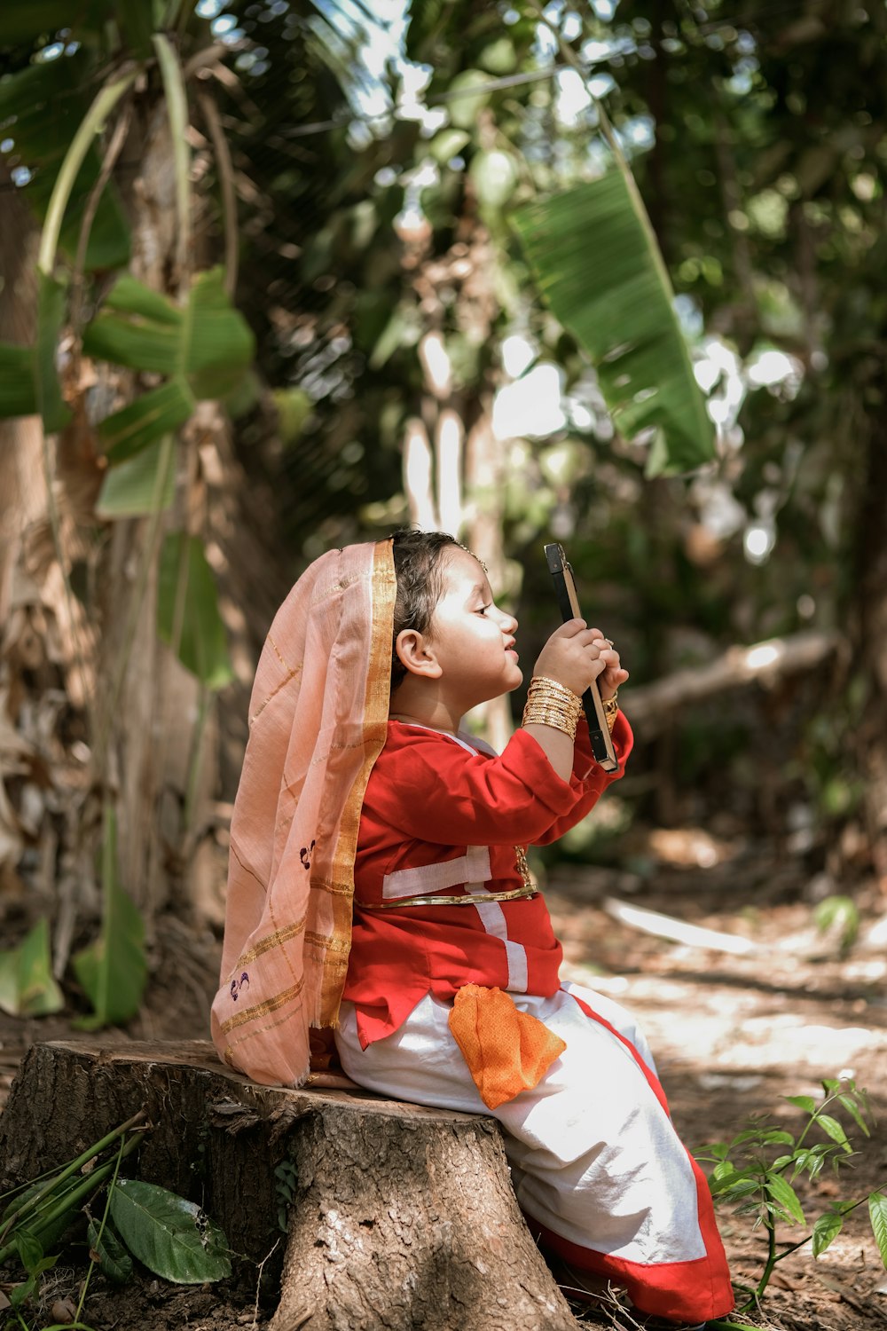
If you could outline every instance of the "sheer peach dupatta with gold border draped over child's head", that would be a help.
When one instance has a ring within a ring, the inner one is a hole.
[[[255,672],[211,1033],[226,1063],[265,1085],[302,1085],[310,1028],[336,1021],[395,595],[390,540],[328,551],[278,611]]]

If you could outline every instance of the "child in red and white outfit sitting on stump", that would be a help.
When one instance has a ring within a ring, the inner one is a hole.
[[[621,775],[628,672],[598,630],[561,626],[497,756],[460,721],[520,685],[516,630],[440,532],[328,552],[299,579],[250,703],[213,1036],[257,1081],[299,1083],[310,1029],[335,1026],[359,1085],[492,1113],[572,1283],[698,1323],[733,1307],[705,1179],[629,1016],[560,984],[525,860],[613,779],[580,715],[593,679]]]

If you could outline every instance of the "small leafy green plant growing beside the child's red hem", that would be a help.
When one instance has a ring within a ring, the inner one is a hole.
[[[701,1163],[713,1165],[709,1186],[715,1203],[735,1205],[737,1214],[754,1215],[754,1225],[763,1226],[767,1235],[767,1258],[761,1279],[754,1290],[747,1290],[747,1302],[738,1310],[745,1312],[763,1298],[778,1262],[797,1252],[805,1243],[813,1243],[813,1255],[822,1252],[840,1234],[844,1217],[868,1203],[871,1227],[887,1267],[887,1191],[876,1189],[852,1201],[832,1201],[828,1209],[810,1226],[810,1233],[785,1251],[777,1251],[777,1225],[809,1226],[794,1183],[807,1175],[815,1179],[826,1166],[836,1174],[842,1165],[856,1154],[842,1123],[830,1110],[840,1107],[854,1121],[864,1137],[870,1137],[866,1119],[871,1119],[864,1090],[847,1078],[822,1082],[824,1098],[819,1105],[813,1095],[787,1095],[790,1105],[806,1114],[799,1134],[783,1127],[773,1127],[766,1119],[753,1119],[751,1125],[730,1142],[714,1142],[697,1151]],[[827,1141],[811,1141],[819,1129]]]

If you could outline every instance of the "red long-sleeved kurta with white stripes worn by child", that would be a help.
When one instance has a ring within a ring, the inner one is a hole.
[[[400,909],[396,901],[520,888],[515,848],[563,836],[622,775],[632,731],[621,712],[613,744],[620,769],[608,775],[592,757],[581,717],[573,772],[563,781],[524,729],[497,756],[388,721],[360,815],[343,993],[355,1004],[364,1049],[398,1030],[427,993],[451,1000],[467,984],[557,992],[561,946],[541,896]],[[378,909],[383,902],[391,906]]]

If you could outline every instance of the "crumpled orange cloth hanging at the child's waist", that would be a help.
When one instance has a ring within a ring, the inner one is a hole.
[[[453,1000],[449,1030],[488,1109],[531,1090],[567,1049],[501,989],[464,985]]]

